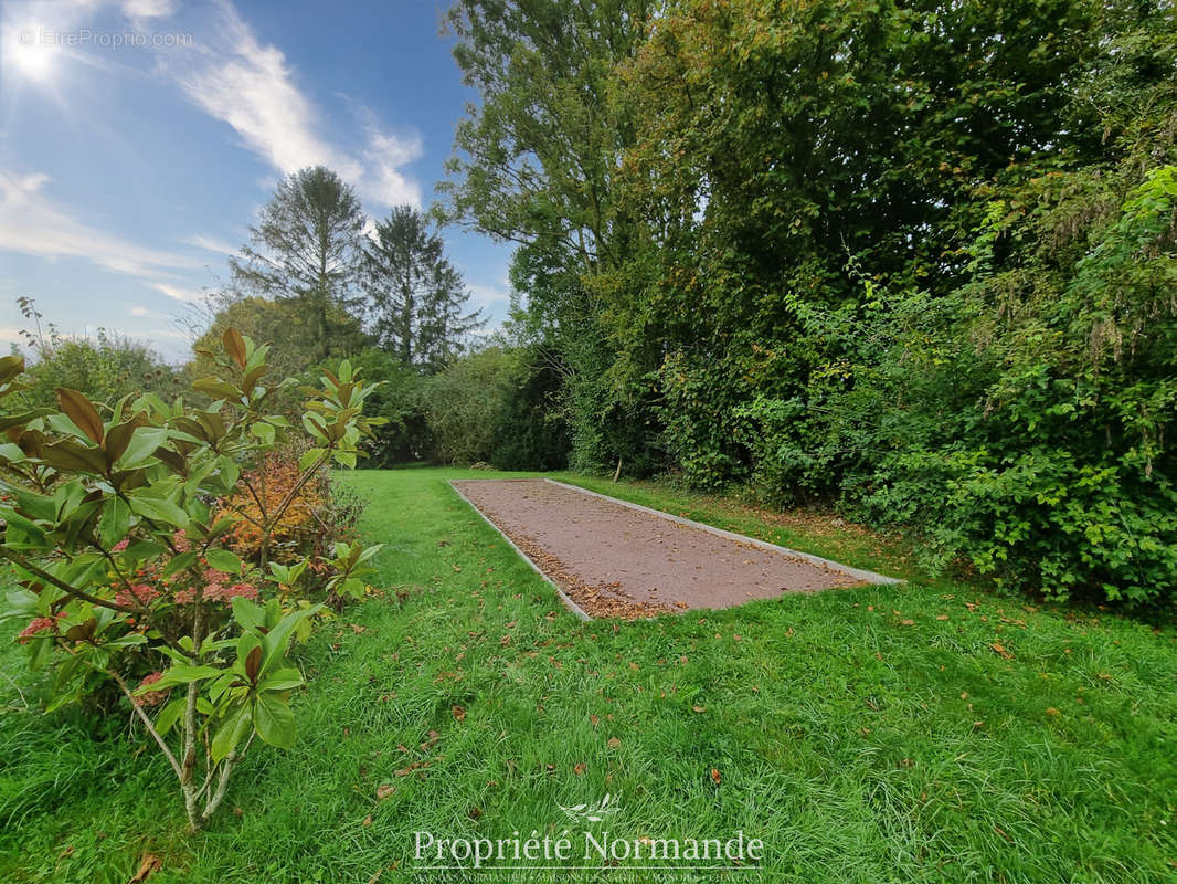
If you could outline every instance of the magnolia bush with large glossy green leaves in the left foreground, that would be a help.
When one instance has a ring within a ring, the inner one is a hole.
[[[322,611],[300,591],[307,568],[335,596],[365,591],[379,547],[335,543],[327,555],[280,563],[267,539],[307,483],[354,467],[378,418],[343,363],[324,371],[299,424],[271,414],[293,382],[267,383],[266,347],[228,329],[212,374],[193,388],[213,401],[128,395],[113,404],[59,388],[58,408],[0,410],[0,556],[15,588],[2,615],[34,668],[52,672],[48,708],[113,684],[167,759],[193,830],[221,804],[255,738],[294,741],[291,692],[304,684],[287,652]],[[20,402],[24,359],[0,359],[0,404]],[[258,467],[301,444],[280,493]],[[248,501],[248,506],[246,506]],[[232,539],[257,537],[241,558]]]

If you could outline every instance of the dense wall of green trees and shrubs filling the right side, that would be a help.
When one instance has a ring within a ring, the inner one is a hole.
[[[524,243],[574,467],[1177,601],[1171,2],[511,8],[453,17],[483,100],[447,190]]]

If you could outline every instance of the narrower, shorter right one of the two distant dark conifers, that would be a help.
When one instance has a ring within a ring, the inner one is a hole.
[[[365,284],[379,345],[405,365],[439,371],[483,324],[464,312],[470,298],[461,273],[445,257],[441,237],[410,205],[377,224],[366,248]]]

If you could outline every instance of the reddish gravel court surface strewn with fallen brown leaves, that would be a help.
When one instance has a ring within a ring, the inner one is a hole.
[[[726,608],[859,582],[541,479],[453,484],[590,616]]]

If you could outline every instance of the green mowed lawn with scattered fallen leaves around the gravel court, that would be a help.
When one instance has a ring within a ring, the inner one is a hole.
[[[421,871],[413,832],[580,838],[558,805],[606,793],[591,831],[765,842],[760,871],[676,880],[1177,879],[1172,629],[927,580],[583,624],[445,482],[488,475],[343,480],[383,595],[298,649],[298,745],[253,753],[197,837],[140,731],[38,714],[0,652],[0,880],[122,884],[144,852],[158,883],[478,880]],[[829,520],[563,477],[911,575]],[[634,867],[561,879],[661,879]]]

